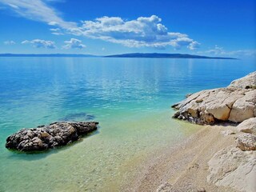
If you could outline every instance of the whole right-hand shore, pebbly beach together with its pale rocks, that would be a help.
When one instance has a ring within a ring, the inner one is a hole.
[[[254,191],[255,88],[256,71],[230,86],[201,90],[174,104],[178,112],[173,118],[202,125],[202,129],[175,148],[165,147],[157,158],[151,157],[129,190]]]

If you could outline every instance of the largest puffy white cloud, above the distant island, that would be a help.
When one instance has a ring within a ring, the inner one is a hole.
[[[69,32],[130,47],[164,48],[173,46],[175,49],[180,49],[182,46],[186,46],[190,50],[198,48],[199,43],[189,38],[187,34],[169,32],[161,22],[162,19],[156,15],[130,21],[105,16],[96,18],[94,21],[83,21],[82,26],[73,28]]]

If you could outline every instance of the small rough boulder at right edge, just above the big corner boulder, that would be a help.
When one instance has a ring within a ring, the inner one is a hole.
[[[256,136],[254,134],[238,134],[236,142],[240,150],[256,150]]]

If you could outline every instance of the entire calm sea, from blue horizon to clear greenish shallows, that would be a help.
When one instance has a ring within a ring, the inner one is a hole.
[[[0,58],[0,191],[118,190],[136,163],[199,129],[171,119],[170,105],[254,70],[252,60]],[[71,146],[4,147],[22,127],[86,114],[100,129]]]

